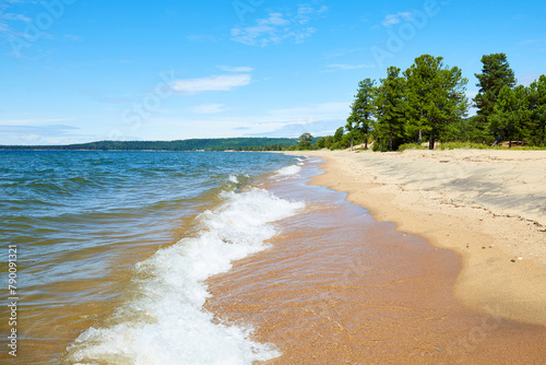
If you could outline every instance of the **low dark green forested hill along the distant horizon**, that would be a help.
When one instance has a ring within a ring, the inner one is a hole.
[[[0,145],[0,150],[50,151],[282,151],[297,138],[217,138],[179,141],[99,141],[67,145]]]

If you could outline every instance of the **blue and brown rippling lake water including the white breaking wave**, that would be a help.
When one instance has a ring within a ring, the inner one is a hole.
[[[298,163],[269,153],[0,152],[2,240],[19,252],[21,363],[278,355],[248,329],[214,325],[201,311],[202,283],[263,249],[271,223],[301,209],[260,188]]]

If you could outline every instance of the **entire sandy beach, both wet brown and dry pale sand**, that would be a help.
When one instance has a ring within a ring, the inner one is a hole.
[[[266,364],[544,363],[545,233],[525,199],[544,207],[546,154],[498,153],[307,153],[325,162],[269,187],[306,212],[207,280],[205,309],[277,346]]]

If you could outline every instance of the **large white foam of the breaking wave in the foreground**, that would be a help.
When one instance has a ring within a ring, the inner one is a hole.
[[[197,237],[135,266],[133,299],[118,308],[115,325],[83,332],[69,346],[67,362],[239,365],[281,355],[273,344],[250,340],[251,328],[213,323],[213,315],[202,309],[211,295],[203,281],[264,249],[276,233],[272,223],[305,204],[258,188],[222,195],[221,207],[198,217]]]

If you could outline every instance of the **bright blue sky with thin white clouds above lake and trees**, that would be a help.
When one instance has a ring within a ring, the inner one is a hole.
[[[544,1],[0,0],[0,144],[324,136],[358,81],[441,56],[546,73]]]

